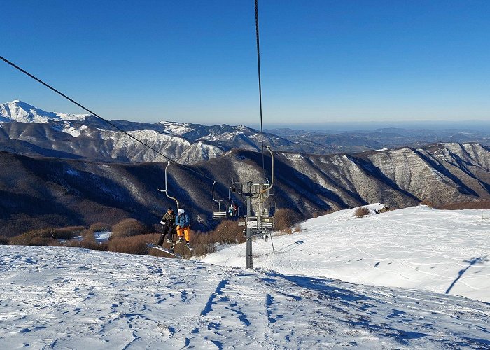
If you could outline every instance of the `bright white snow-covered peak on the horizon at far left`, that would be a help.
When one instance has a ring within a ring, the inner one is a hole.
[[[22,123],[49,123],[60,120],[85,120],[88,114],[46,112],[25,102],[15,100],[0,104],[0,121]]]

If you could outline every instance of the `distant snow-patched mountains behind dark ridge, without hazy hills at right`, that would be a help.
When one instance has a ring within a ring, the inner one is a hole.
[[[183,164],[208,160],[232,148],[253,151],[262,148],[260,132],[243,125],[150,124],[126,120],[113,120],[112,123]],[[41,147],[45,150],[42,155],[61,151],[67,158],[108,162],[166,160],[94,116],[46,112],[21,101],[0,105],[0,129],[0,150],[3,151],[38,155]],[[293,144],[269,134],[265,135],[265,142],[278,147]]]

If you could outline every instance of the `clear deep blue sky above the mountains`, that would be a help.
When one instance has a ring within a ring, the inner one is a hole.
[[[267,125],[490,120],[490,1],[259,0]],[[0,55],[109,119],[258,123],[253,0],[1,1]],[[82,113],[0,62],[0,102]]]

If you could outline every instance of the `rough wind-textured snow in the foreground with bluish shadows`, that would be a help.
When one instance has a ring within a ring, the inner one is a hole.
[[[35,246],[0,281],[1,349],[490,348],[490,304],[452,295]]]

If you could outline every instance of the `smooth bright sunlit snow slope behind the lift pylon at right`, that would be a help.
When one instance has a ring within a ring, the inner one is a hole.
[[[372,204],[371,209],[381,204]],[[301,224],[303,231],[253,244],[253,266],[283,274],[416,288],[490,302],[490,211],[410,207],[354,217],[337,211]],[[208,255],[245,265],[243,244]]]

